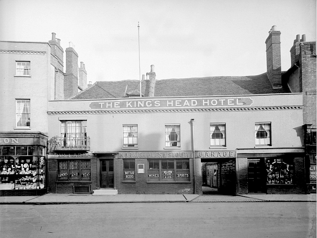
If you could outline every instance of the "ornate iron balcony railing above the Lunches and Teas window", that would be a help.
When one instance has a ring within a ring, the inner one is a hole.
[[[59,137],[54,136],[48,141],[48,150],[90,150],[90,137],[89,136],[69,136]]]

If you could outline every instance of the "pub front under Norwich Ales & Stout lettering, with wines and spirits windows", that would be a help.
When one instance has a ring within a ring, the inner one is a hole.
[[[115,159],[119,194],[192,194],[191,151],[119,151]]]

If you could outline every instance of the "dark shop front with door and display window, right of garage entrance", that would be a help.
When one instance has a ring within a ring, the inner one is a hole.
[[[238,151],[238,193],[304,194],[303,148]]]

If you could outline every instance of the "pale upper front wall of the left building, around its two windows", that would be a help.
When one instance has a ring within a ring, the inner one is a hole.
[[[0,131],[48,133],[47,100],[51,47],[40,42],[0,42]],[[14,53],[19,52],[20,54]],[[16,76],[16,61],[30,61],[30,77]],[[16,128],[16,99],[31,100],[31,128]]]

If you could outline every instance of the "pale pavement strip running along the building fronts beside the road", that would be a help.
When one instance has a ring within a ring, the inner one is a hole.
[[[117,194],[92,196],[92,194],[55,194],[42,196],[0,197],[0,204],[89,204],[89,203],[133,203],[133,202],[316,202],[316,194]]]

